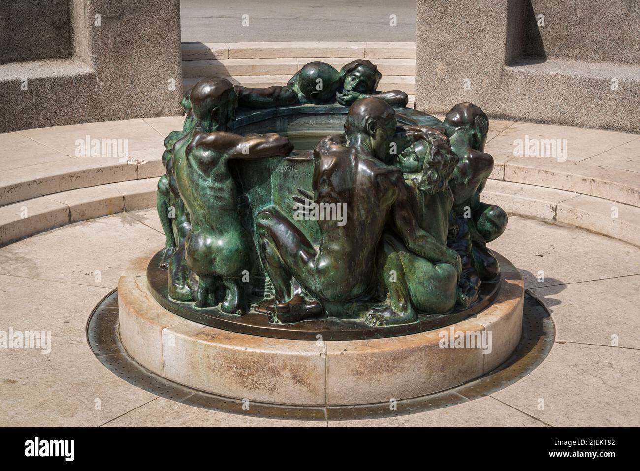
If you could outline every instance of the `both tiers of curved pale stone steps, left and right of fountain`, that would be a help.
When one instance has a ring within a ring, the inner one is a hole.
[[[182,116],[0,134],[0,246],[45,230],[156,205],[164,136]],[[125,159],[77,157],[78,139],[128,140]],[[516,157],[523,136],[566,136],[567,160]],[[640,136],[490,120],[495,167],[483,200],[640,246]],[[536,237],[536,234],[531,234]],[[552,241],[550,241],[552,243]]]

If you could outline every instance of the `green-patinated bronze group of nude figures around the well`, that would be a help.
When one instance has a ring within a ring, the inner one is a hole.
[[[442,124],[399,124],[408,97],[377,92],[380,78],[368,60],[340,71],[316,61],[285,86],[193,86],[158,183],[170,298],[220,315],[253,309],[274,324],[329,316],[370,326],[476,301],[499,276],[486,243],[507,223],[480,200],[493,168],[488,119],[463,103]],[[234,134],[236,109],[334,103],[349,107],[344,133],[312,152],[278,134]],[[309,177],[264,163],[283,159]]]

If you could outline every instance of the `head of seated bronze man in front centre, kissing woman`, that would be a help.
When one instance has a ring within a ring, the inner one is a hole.
[[[396,132],[396,111],[377,98],[358,100],[344,122],[349,145],[365,143],[376,159],[387,161],[389,145]]]

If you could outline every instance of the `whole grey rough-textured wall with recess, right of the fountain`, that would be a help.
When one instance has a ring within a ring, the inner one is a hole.
[[[416,108],[640,132],[638,3],[595,3],[417,0]]]

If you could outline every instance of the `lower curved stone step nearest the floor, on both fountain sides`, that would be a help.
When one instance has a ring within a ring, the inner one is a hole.
[[[0,246],[66,224],[154,207],[157,177],[62,191],[0,207]],[[640,246],[640,208],[536,185],[489,180],[483,201]]]

